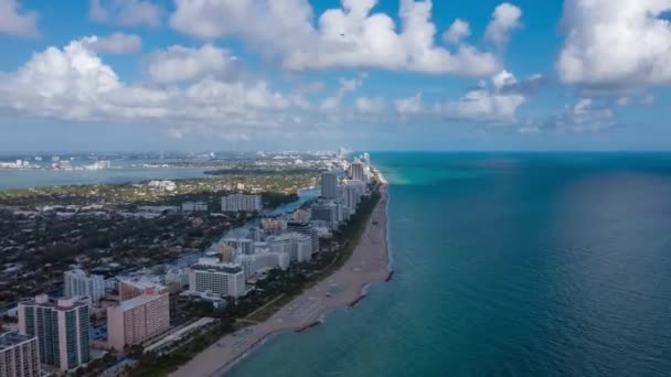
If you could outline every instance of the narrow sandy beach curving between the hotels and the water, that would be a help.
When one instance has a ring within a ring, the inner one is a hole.
[[[365,233],[340,270],[301,293],[267,321],[224,336],[171,376],[221,376],[269,336],[307,330],[319,323],[324,313],[358,303],[371,282],[387,280],[392,273],[386,238],[388,193],[386,182],[382,181],[382,197]]]

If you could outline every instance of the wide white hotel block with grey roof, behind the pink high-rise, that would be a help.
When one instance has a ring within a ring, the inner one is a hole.
[[[209,254],[191,266],[189,290],[238,298],[245,294],[245,272],[241,266],[225,263],[217,255]]]

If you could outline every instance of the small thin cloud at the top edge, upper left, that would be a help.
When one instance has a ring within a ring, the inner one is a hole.
[[[158,26],[162,9],[149,0],[90,0],[88,17],[123,26]]]

